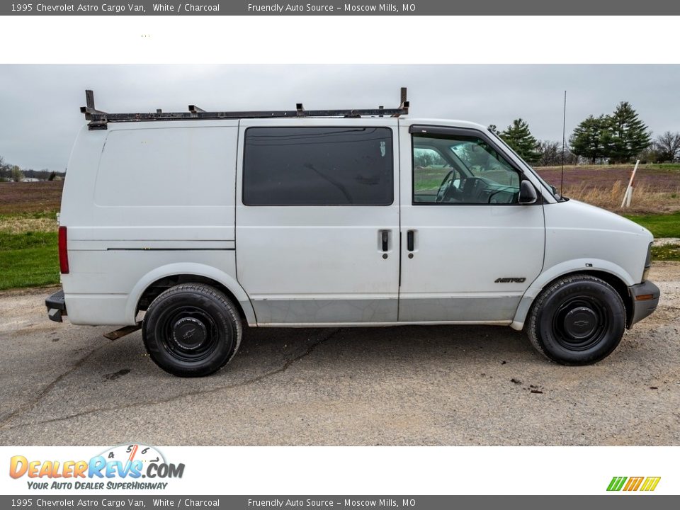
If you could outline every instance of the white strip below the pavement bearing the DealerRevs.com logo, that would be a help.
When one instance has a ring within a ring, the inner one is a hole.
[[[645,494],[680,494],[679,453],[678,447],[4,446],[1,491],[642,494],[645,479],[660,477],[646,480],[647,488],[655,487]],[[614,477],[642,480],[637,490],[624,490],[624,482],[618,491],[608,491]]]

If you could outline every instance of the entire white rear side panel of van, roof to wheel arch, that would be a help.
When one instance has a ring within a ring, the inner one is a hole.
[[[60,217],[68,229],[71,271],[62,285],[71,322],[133,324],[139,295],[132,290],[163,266],[193,263],[235,282],[237,126],[121,123],[81,131]]]

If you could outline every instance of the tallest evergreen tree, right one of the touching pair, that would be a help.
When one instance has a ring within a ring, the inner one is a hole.
[[[638,118],[638,113],[628,101],[618,103],[607,124],[608,136],[604,142],[606,154],[612,162],[628,162],[652,143],[647,125]]]

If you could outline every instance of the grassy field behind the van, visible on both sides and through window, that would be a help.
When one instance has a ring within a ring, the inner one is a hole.
[[[638,169],[633,208],[621,210],[631,165],[565,167],[565,196],[625,215],[655,237],[680,238],[680,164]],[[559,188],[559,168],[539,168]],[[416,183],[436,191],[443,176]],[[59,283],[57,210],[63,182],[0,183],[0,290]],[[655,246],[656,260],[680,261],[680,244]]]

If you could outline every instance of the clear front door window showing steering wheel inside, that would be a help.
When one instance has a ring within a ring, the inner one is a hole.
[[[468,135],[412,137],[414,204],[514,204],[519,173],[485,140]]]

